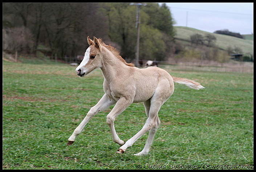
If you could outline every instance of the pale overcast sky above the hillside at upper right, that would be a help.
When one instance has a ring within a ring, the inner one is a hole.
[[[162,3],[159,3],[161,5]],[[166,3],[176,24],[213,33],[253,33],[253,3]]]

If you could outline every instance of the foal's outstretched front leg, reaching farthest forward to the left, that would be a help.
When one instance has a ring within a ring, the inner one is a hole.
[[[108,108],[109,106],[115,104],[116,101],[114,101],[113,99],[110,99],[109,96],[107,96],[106,94],[102,96],[101,100],[99,100],[99,102],[93,106],[89,112],[87,113],[87,115],[85,116],[85,118],[83,119],[83,121],[78,125],[78,127],[74,130],[73,134],[69,137],[68,139],[68,143],[67,145],[71,145],[73,144],[73,142],[75,141],[76,137],[82,132],[82,130],[84,129],[86,123],[88,123],[88,121],[94,116],[96,115],[98,112],[105,110],[106,108]]]

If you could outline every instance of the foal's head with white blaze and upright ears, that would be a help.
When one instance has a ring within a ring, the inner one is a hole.
[[[102,49],[101,41],[96,37],[93,40],[87,37],[87,42],[89,44],[88,49],[85,51],[85,56],[80,65],[76,68],[78,76],[85,76],[92,72],[97,67],[101,67],[102,56],[100,51]]]

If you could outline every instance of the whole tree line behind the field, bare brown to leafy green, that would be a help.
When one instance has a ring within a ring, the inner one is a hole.
[[[134,59],[136,13],[130,3],[3,3],[3,49],[76,57],[84,54],[89,35]],[[164,3],[146,3],[140,18],[140,58],[165,60],[174,49],[170,10]]]

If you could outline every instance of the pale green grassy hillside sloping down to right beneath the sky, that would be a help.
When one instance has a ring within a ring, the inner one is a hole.
[[[229,46],[233,47],[240,47],[243,51],[243,53],[252,53],[253,52],[253,41],[248,39],[241,39],[236,38],[228,35],[222,35],[222,34],[216,34],[216,33],[210,33],[205,32],[202,30],[194,29],[194,28],[188,28],[184,26],[175,26],[176,29],[176,38],[181,39],[183,41],[190,41],[190,36],[193,34],[212,34],[216,37],[216,45],[220,49],[226,50]]]

